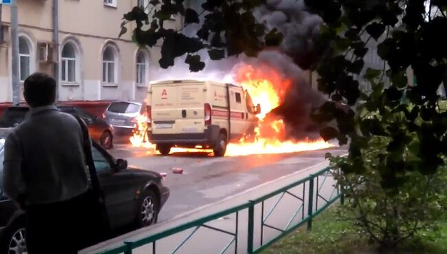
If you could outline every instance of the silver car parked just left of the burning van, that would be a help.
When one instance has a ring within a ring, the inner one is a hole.
[[[137,123],[137,116],[142,112],[141,103],[127,101],[113,101],[105,109],[102,117],[107,120],[116,134],[129,136],[133,133]]]

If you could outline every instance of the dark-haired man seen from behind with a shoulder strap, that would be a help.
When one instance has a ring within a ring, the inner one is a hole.
[[[5,142],[4,191],[27,213],[28,253],[77,253],[89,186],[83,133],[54,105],[54,78],[32,74],[23,95],[30,112]]]

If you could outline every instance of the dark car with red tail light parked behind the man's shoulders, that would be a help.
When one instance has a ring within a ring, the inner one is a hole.
[[[58,105],[58,109],[61,109],[62,112],[78,115],[80,118],[83,118],[89,127],[91,138],[98,141],[105,149],[113,148],[113,127],[105,120],[92,116],[79,107]],[[23,122],[29,110],[29,107],[26,105],[8,107],[0,120],[0,128],[12,128],[19,125],[19,123]]]

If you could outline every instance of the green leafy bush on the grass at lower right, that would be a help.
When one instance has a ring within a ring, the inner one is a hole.
[[[413,137],[417,138],[417,137]],[[447,209],[445,170],[425,176],[419,171],[401,173],[395,180],[398,188],[382,187],[381,154],[391,138],[373,137],[362,149],[364,171],[337,173],[345,187],[345,207],[340,213],[344,220],[353,220],[381,250],[397,248],[417,236],[417,231],[435,229]],[[331,157],[332,167],[349,164],[345,157]]]

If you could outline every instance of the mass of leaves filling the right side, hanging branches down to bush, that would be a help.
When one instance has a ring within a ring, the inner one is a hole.
[[[326,51],[316,70],[320,91],[332,99],[313,118],[336,120],[323,138],[349,140],[347,158],[331,161],[342,170],[351,209],[371,239],[395,246],[430,225],[443,198],[437,182],[445,171],[447,112],[436,92],[446,74],[447,39],[437,34],[447,29],[447,2],[426,1],[428,10],[417,0],[305,2],[325,21]],[[367,52],[380,56],[382,70],[364,67]],[[408,83],[408,70],[417,85]],[[361,73],[370,93],[354,78]],[[341,100],[356,112],[338,109]]]

